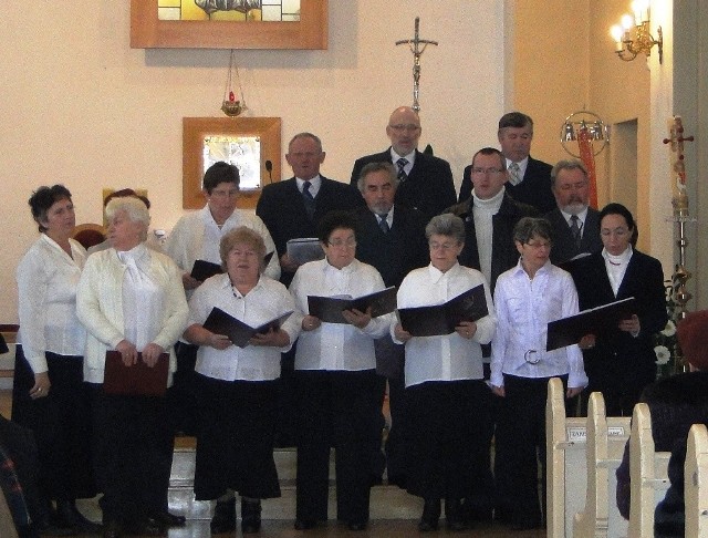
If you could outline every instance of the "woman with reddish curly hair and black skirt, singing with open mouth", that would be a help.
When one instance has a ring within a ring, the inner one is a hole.
[[[261,499],[280,497],[273,461],[280,354],[300,333],[300,317],[256,334],[248,345],[202,327],[219,308],[250,327],[295,310],[285,287],[264,275],[266,245],[244,226],[221,239],[225,275],[207,279],[189,300],[188,342],[199,345],[195,393],[200,411],[197,434],[197,499],[218,499],[211,534],[236,530],[235,492],[241,495],[241,530],[258,532]]]

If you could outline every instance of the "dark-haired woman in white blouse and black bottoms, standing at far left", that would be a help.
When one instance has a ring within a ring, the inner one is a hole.
[[[71,235],[71,193],[40,187],[29,200],[40,238],[17,269],[20,333],[12,420],[34,432],[43,531],[95,531],[75,499],[96,495],[91,463],[91,411],[83,383],[86,333],[76,318],[76,286],[86,251]],[[52,506],[56,503],[56,507]]]

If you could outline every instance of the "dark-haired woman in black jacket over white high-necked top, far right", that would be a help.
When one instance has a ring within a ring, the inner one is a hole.
[[[634,297],[635,311],[617,327],[582,342],[590,379],[582,394],[582,411],[594,391],[602,392],[607,416],[632,416],[642,390],[656,379],[653,335],[666,327],[662,263],[633,247],[636,225],[621,204],[600,213],[601,252],[589,256],[573,271],[580,309],[586,310]]]

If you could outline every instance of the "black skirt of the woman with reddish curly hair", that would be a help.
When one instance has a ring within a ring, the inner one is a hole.
[[[196,377],[196,498],[216,499],[227,488],[251,498],[280,497],[273,459],[279,382]]]

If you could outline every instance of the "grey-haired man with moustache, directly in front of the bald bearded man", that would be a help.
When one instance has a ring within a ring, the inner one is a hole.
[[[366,207],[358,207],[356,258],[374,266],[384,283],[400,286],[413,269],[428,265],[428,242],[425,238],[426,218],[417,209],[394,204],[398,178],[388,162],[369,163],[362,168],[357,186]],[[389,335],[374,342],[376,373],[379,380],[383,404],[388,380],[388,404],[392,426],[386,438],[386,463],[375,457],[374,479],[381,479],[384,465],[388,468],[388,484],[405,487],[406,467],[404,438],[405,376],[404,346],[393,342]],[[375,425],[381,432],[383,421]]]

